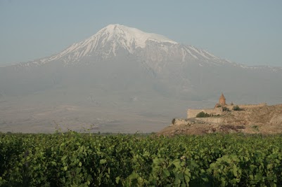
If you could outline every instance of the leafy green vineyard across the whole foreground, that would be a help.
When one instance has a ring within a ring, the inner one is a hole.
[[[281,186],[282,137],[0,134],[0,186]]]

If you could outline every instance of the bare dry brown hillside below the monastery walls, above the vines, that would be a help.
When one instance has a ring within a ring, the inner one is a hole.
[[[214,132],[282,133],[282,104],[243,111],[228,111],[224,113],[222,118],[224,118],[224,122],[220,124],[205,123],[191,118],[186,120],[186,124],[169,125],[158,134],[173,136],[176,134],[208,134]]]

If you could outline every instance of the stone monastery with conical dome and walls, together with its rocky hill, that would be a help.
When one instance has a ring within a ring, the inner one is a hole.
[[[188,109],[187,118],[173,118],[166,134],[282,132],[282,104],[230,104],[222,94],[213,109]]]

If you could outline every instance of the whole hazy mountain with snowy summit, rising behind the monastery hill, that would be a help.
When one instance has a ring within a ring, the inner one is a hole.
[[[281,67],[248,67],[108,25],[56,55],[0,67],[0,127],[153,132],[185,117],[187,108],[213,107],[221,92],[227,102],[279,103],[281,80]]]

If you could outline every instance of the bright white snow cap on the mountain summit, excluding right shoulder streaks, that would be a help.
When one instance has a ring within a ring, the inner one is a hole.
[[[139,29],[124,25],[108,25],[88,39],[74,43],[61,53],[41,59],[40,62],[59,60],[62,57],[67,57],[65,60],[79,60],[81,57],[93,55],[92,53],[95,55],[95,52],[98,55],[97,53],[102,52],[102,50],[102,55],[106,58],[110,53],[116,55],[115,50],[117,48],[124,48],[129,53],[134,53],[136,48],[145,48],[146,41],[177,43],[159,34],[142,32]]]

